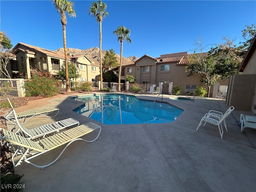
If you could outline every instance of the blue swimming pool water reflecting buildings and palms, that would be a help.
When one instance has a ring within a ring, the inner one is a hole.
[[[167,123],[183,112],[170,104],[139,100],[130,95],[95,94],[75,99],[85,104],[75,112],[103,124]]]

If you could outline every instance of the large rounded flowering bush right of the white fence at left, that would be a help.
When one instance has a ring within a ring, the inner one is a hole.
[[[58,88],[60,82],[54,78],[45,76],[34,76],[32,80],[24,85],[26,96],[51,97],[60,93]]]

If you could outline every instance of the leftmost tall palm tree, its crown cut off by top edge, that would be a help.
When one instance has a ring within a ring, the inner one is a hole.
[[[52,0],[56,10],[60,13],[60,21],[63,30],[63,44],[64,44],[64,54],[65,54],[65,71],[66,71],[66,87],[67,92],[71,92],[68,80],[68,54],[67,54],[67,44],[66,44],[66,12],[70,17],[76,17],[76,12],[73,10],[74,2],[68,0]]]

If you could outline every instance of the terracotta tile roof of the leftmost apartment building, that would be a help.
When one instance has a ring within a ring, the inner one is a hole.
[[[60,53],[57,53],[57,52],[54,52],[54,51],[51,51],[51,50],[48,50],[48,49],[40,48],[40,47],[37,47],[37,46],[33,46],[33,45],[26,44],[26,43],[22,43],[22,42],[18,42],[18,44],[12,49],[12,52],[16,52],[17,50],[19,50],[19,49],[16,49],[19,44],[23,45],[23,46],[25,46],[27,48],[33,49],[36,52],[40,52],[42,54],[46,54],[47,56],[52,56],[52,57],[56,57],[56,58],[65,59],[65,55],[64,54],[60,54]],[[25,50],[25,49],[23,49],[23,50]],[[25,51],[29,51],[29,50],[25,50]]]

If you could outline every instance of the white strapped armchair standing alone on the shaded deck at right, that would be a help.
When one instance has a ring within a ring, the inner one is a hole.
[[[218,115],[218,114],[214,114],[214,113],[206,113],[198,127],[196,130],[198,130],[198,128],[201,126],[201,124],[204,122],[204,125],[206,124],[206,122],[210,123],[210,124],[214,124],[214,125],[218,125],[218,128],[219,128],[219,131],[220,131],[220,137],[222,138],[223,137],[223,128],[222,128],[222,122],[230,115],[230,113],[232,112],[233,110],[227,110],[222,116]],[[225,122],[226,124],[226,122]],[[226,126],[225,126],[226,128]],[[228,132],[228,130],[226,129],[226,131]]]

